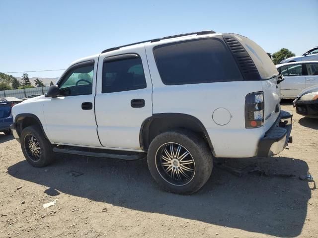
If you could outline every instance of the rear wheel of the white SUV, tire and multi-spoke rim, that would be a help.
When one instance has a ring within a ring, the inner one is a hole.
[[[186,157],[182,158],[184,155]],[[151,175],[161,188],[168,192],[191,194],[210,178],[213,158],[207,143],[195,133],[173,130],[155,137],[148,149],[147,162]]]

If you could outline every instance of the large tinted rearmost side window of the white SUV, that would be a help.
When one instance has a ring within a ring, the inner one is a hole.
[[[230,51],[218,38],[160,45],[154,56],[166,85],[243,80]]]

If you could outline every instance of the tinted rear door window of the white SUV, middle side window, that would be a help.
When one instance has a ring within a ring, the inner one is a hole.
[[[140,57],[105,61],[102,80],[102,93],[122,92],[147,87]]]

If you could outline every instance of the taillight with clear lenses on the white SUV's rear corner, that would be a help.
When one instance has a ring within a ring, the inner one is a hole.
[[[245,97],[245,127],[256,128],[264,124],[264,93],[249,93]]]

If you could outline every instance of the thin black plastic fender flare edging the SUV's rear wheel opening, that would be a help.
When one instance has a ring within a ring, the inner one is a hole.
[[[199,125],[199,127],[201,128],[201,130],[203,131],[207,141],[208,141],[208,144],[210,146],[210,149],[212,151],[212,154],[215,155],[215,152],[214,152],[214,149],[213,149],[213,145],[212,145],[212,142],[211,142],[211,139],[210,139],[210,136],[206,130],[206,128],[204,127],[203,123],[191,116],[191,115],[188,115],[188,114],[182,114],[182,113],[159,113],[159,114],[153,114],[152,117],[149,117],[147,119],[145,119],[141,125],[141,128],[140,128],[140,132],[139,132],[139,143],[140,143],[140,148],[143,150],[143,151],[147,151],[146,148],[145,148],[145,144],[150,144],[148,140],[148,136],[149,136],[149,127],[151,125],[151,122],[153,119],[160,119],[160,118],[170,118],[170,119],[190,119],[193,121],[193,123],[196,123]],[[146,140],[146,141],[145,141]]]

